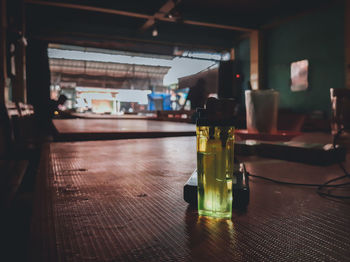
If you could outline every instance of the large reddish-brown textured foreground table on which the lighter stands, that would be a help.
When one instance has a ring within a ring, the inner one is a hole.
[[[32,261],[349,261],[348,202],[251,179],[247,211],[198,217],[183,200],[194,137],[52,143],[38,174]],[[323,183],[337,165],[245,158],[253,174]],[[347,168],[350,168],[350,156]]]

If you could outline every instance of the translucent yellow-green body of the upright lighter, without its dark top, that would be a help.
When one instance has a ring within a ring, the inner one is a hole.
[[[231,218],[234,128],[211,128],[197,127],[198,213]]]

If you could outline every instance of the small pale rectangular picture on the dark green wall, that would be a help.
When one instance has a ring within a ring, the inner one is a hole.
[[[308,82],[309,60],[301,60],[291,63],[290,82],[292,92],[305,91],[309,87]]]

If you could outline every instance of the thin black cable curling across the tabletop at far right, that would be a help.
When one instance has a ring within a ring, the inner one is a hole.
[[[342,132],[343,132],[343,129],[340,129],[337,132],[337,134],[334,136],[334,138],[333,138],[333,148],[334,149],[336,149],[336,147],[337,147],[336,146],[336,141],[338,140],[338,137],[340,136],[340,134]],[[321,196],[332,197],[332,198],[339,198],[339,199],[350,199],[350,196],[334,195],[334,194],[322,192],[322,189],[324,189],[324,188],[339,188],[339,187],[342,187],[342,186],[350,185],[350,182],[329,185],[332,182],[335,182],[335,181],[338,181],[338,180],[341,180],[341,179],[344,179],[344,178],[350,178],[350,174],[347,172],[347,170],[345,169],[343,164],[339,163],[339,166],[340,166],[340,168],[342,169],[342,171],[344,172],[345,175],[332,178],[332,179],[326,181],[323,184],[292,183],[292,182],[280,181],[280,180],[276,180],[276,179],[272,179],[272,178],[268,178],[268,177],[252,175],[252,174],[249,174],[249,173],[247,173],[247,175],[248,175],[248,177],[259,178],[259,179],[262,179],[262,180],[266,180],[266,181],[273,182],[273,183],[276,183],[276,184],[281,184],[281,185],[317,187],[317,193],[319,195],[321,195]]]

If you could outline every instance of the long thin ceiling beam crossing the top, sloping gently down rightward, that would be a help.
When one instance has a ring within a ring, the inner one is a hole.
[[[55,7],[62,7],[62,8],[70,8],[70,9],[105,13],[105,14],[121,15],[121,16],[133,17],[133,18],[141,18],[141,19],[147,19],[147,20],[154,19],[154,16],[152,16],[152,15],[146,15],[146,14],[140,14],[140,13],[135,13],[135,12],[116,10],[116,9],[109,9],[109,8],[101,8],[101,7],[96,7],[96,6],[87,6],[87,5],[60,3],[60,2],[47,2],[47,1],[40,1],[40,0],[24,0],[24,2],[26,4],[41,5],[41,6],[55,6]],[[166,16],[163,16],[163,17],[160,16],[159,18],[157,17],[157,19],[160,21],[169,22],[169,23],[179,23],[179,21],[177,19],[169,18]],[[246,27],[232,26],[232,25],[222,25],[222,24],[215,24],[215,23],[207,23],[207,22],[193,21],[193,20],[186,20],[186,19],[181,20],[181,23],[187,24],[187,25],[218,28],[218,29],[225,29],[225,30],[231,30],[231,31],[243,31],[243,32],[254,31],[253,28],[246,28]]]

